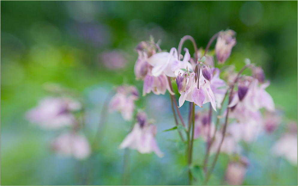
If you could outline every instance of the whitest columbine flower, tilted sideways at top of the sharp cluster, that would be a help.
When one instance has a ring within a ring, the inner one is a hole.
[[[171,48],[170,52],[159,52],[148,58],[148,63],[153,66],[151,74],[155,77],[165,73],[166,76],[176,77],[171,70],[172,63],[178,60],[176,48]]]

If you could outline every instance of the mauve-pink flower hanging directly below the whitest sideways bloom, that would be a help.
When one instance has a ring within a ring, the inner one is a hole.
[[[161,73],[159,76],[153,76],[148,70],[148,74],[145,76],[144,85],[143,85],[143,96],[150,93],[151,91],[156,94],[165,94],[165,91],[168,90],[172,95],[174,93],[171,91],[168,78],[164,73]]]

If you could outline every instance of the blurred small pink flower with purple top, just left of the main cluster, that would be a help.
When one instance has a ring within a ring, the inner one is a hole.
[[[109,103],[109,111],[119,111],[125,121],[131,121],[133,118],[133,110],[135,108],[134,101],[139,98],[139,93],[134,86],[120,86],[117,93]]]

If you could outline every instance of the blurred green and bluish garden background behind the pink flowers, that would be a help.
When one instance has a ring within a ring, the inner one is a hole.
[[[150,35],[169,51],[184,35],[206,47],[214,33],[235,30],[237,44],[225,64],[240,70],[249,58],[261,65],[276,106],[286,121],[297,122],[297,27],[297,1],[2,1],[1,185],[121,184],[124,150],[118,146],[130,123],[120,114],[108,116],[99,150],[83,161],[55,156],[49,142],[57,132],[29,124],[24,114],[48,95],[46,82],[78,90],[87,100],[84,132],[92,140],[113,85],[135,84],[142,93],[133,49]],[[184,46],[193,54],[190,42]],[[105,62],[109,51],[120,54],[121,67]],[[155,119],[165,157],[131,151],[130,184],[185,185],[185,158],[173,141],[178,136],[160,133],[174,125],[168,93],[151,93],[137,105]],[[297,185],[297,166],[269,153],[282,128],[252,145],[244,185]],[[194,162],[203,159],[201,149],[198,140]],[[223,183],[227,156],[219,161],[210,184]]]

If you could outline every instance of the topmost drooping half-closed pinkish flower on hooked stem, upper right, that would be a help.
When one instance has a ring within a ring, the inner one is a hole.
[[[231,55],[232,47],[236,45],[234,30],[221,31],[215,44],[216,58],[219,63],[224,63]]]

